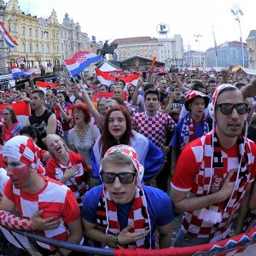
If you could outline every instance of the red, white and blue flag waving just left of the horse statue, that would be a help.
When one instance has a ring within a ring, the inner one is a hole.
[[[85,67],[88,67],[91,63],[100,61],[101,56],[88,51],[79,51],[73,55],[72,59],[63,60],[69,73],[76,75],[83,71]]]

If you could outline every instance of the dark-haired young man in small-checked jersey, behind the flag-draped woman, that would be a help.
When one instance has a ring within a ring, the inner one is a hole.
[[[131,116],[133,129],[148,137],[163,154],[170,151],[169,146],[166,146],[167,130],[173,131],[176,123],[167,113],[158,111],[160,102],[160,92],[157,89],[148,89],[144,92],[144,104],[146,111],[136,113]],[[167,180],[169,171],[168,168],[163,169],[156,179],[157,186],[164,191],[167,191]]]

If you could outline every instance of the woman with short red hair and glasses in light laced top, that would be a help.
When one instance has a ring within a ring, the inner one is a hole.
[[[90,169],[90,150],[100,137],[100,131],[90,124],[90,111],[84,103],[73,105],[73,120],[75,126],[68,134],[69,148],[81,154]]]

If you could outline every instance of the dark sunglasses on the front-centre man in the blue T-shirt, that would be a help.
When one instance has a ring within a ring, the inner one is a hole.
[[[134,177],[137,176],[137,172],[121,172],[121,173],[113,173],[113,172],[101,172],[103,183],[114,183],[115,178],[119,177],[120,183],[123,184],[131,184],[134,180]]]

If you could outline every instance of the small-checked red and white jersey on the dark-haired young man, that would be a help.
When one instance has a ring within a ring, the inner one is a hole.
[[[159,148],[166,145],[167,129],[173,131],[176,126],[167,113],[157,112],[155,116],[148,116],[146,112],[136,113],[131,119],[133,129],[148,137]]]

